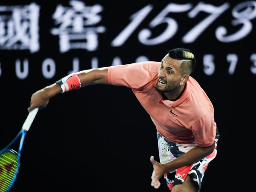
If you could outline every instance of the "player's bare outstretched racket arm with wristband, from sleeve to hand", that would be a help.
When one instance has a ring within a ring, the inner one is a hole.
[[[80,89],[80,87],[85,87],[87,85],[108,84],[108,68],[109,67],[94,68],[70,74],[56,83],[38,90],[31,96],[28,112],[32,111],[36,107],[40,107],[40,109],[46,107],[50,98],[60,92]]]

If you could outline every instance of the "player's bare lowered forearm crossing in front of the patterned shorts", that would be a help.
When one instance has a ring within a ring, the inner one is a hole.
[[[180,168],[186,165],[191,165],[199,161],[200,159],[203,159],[204,157],[210,155],[213,152],[214,148],[215,148],[215,142],[207,148],[195,146],[193,149],[189,150],[187,153],[178,157],[177,159],[174,159],[171,162],[167,162],[163,164],[164,168],[166,172],[170,172],[177,168]]]

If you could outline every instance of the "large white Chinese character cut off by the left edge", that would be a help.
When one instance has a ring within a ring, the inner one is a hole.
[[[35,3],[0,6],[0,49],[39,51],[39,10]]]

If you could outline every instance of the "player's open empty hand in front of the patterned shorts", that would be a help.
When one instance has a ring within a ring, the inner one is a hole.
[[[151,176],[151,186],[153,186],[155,189],[158,189],[161,185],[159,179],[163,176],[163,174],[165,174],[165,168],[163,164],[160,164],[159,162],[154,160],[153,156],[150,157],[150,161],[152,162],[154,169]]]

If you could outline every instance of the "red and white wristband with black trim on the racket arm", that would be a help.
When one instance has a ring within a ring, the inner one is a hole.
[[[72,73],[59,81],[56,81],[56,83],[61,87],[62,92],[67,92],[70,90],[76,90],[81,88],[81,82],[77,74]]]

